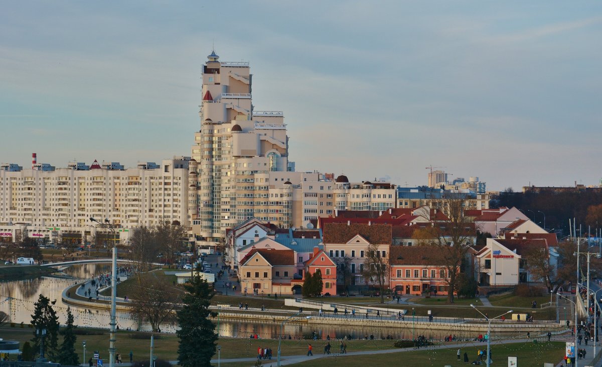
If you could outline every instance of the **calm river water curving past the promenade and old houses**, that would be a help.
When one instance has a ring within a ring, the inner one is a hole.
[[[56,300],[53,308],[57,312],[59,322],[64,324],[67,318],[67,304],[61,300],[61,294],[64,289],[78,283],[97,277],[100,274],[107,274],[111,271],[108,264],[86,264],[74,265],[65,269],[63,277],[39,277],[30,280],[14,280],[0,282],[0,311],[10,315],[10,321],[20,324],[21,322],[29,324],[31,315],[34,312],[34,303],[40,294],[48,297],[51,301]],[[109,328],[110,314],[109,310],[86,309],[85,307],[70,306],[75,319],[74,323],[80,327],[99,327]],[[216,320],[220,336],[226,337],[250,337],[257,334],[258,337],[268,338],[276,337],[279,333],[279,322],[256,322],[240,321],[219,318]],[[409,323],[408,323],[409,324]],[[117,325],[120,329],[132,328],[133,330],[150,330],[148,325],[138,325],[138,322],[131,318],[126,312],[117,312]],[[163,325],[161,331],[170,333],[175,332],[175,325]],[[472,333],[463,331],[452,332],[450,330],[429,330],[427,335],[424,331],[415,331],[416,334],[423,333],[426,337],[441,338],[444,335],[456,334],[458,337],[474,337]],[[407,328],[386,328],[386,327],[355,327],[347,325],[323,325],[303,323],[296,324],[287,322],[284,325],[283,333],[286,337],[292,339],[299,337],[311,337],[312,333],[317,333],[321,338],[330,336],[332,339],[344,336],[352,336],[353,339],[373,335],[375,338],[391,336],[394,339],[410,339],[414,335],[411,325]]]

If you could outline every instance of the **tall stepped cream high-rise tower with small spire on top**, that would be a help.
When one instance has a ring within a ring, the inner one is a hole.
[[[280,218],[281,213],[269,212],[270,201],[288,200],[270,197],[266,177],[258,181],[256,175],[287,171],[289,162],[284,114],[253,109],[249,63],[219,61],[211,52],[202,80],[201,128],[192,147],[198,162],[192,231],[203,248],[219,243],[226,228],[252,218],[256,211]],[[290,210],[287,205],[280,206]]]

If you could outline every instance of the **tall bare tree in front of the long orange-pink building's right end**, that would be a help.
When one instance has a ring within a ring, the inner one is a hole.
[[[473,222],[464,216],[464,206],[472,207],[471,202],[461,196],[450,197],[448,194],[442,202],[442,213],[435,213],[433,218],[429,218],[430,225],[424,228],[430,234],[430,246],[433,247],[433,253],[439,256],[441,269],[448,275],[445,279],[448,303],[454,303],[454,291],[458,289],[456,276],[465,266],[470,246],[476,238]]]

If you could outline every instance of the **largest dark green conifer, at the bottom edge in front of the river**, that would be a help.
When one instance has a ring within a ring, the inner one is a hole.
[[[188,292],[182,298],[184,306],[177,312],[180,330],[178,364],[182,367],[211,366],[211,357],[216,354],[216,325],[211,319],[217,313],[209,311],[214,291],[198,272],[185,284]]]

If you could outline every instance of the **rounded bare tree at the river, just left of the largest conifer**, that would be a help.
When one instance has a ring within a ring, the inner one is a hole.
[[[141,275],[141,283],[129,287],[131,307],[129,313],[142,322],[151,324],[152,331],[159,331],[161,324],[175,321],[180,301],[179,290],[166,278],[153,273]]]

